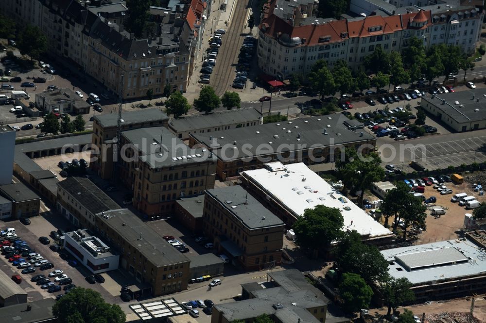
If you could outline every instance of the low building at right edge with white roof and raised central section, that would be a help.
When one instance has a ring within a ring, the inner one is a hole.
[[[482,294],[486,289],[483,232],[466,238],[382,250],[393,278],[412,283],[416,302]]]

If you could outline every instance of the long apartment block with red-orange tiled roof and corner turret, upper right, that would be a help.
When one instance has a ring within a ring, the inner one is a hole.
[[[292,4],[269,1],[259,26],[260,68],[285,79],[294,73],[309,73],[319,59],[330,67],[344,60],[356,69],[377,46],[402,51],[413,36],[423,39],[426,48],[446,43],[461,46],[466,53],[474,52],[479,40],[484,14],[473,4],[421,8],[395,8],[381,0],[353,0],[353,4],[360,1],[374,6],[364,16],[341,20],[310,16],[307,0]],[[358,4],[365,7],[361,2]]]

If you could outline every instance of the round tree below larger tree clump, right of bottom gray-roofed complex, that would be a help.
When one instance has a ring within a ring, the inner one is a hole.
[[[358,312],[361,308],[368,308],[373,296],[373,290],[364,279],[357,274],[344,273],[339,284],[339,296],[347,312]]]

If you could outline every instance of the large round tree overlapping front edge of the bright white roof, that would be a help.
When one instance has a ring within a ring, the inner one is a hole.
[[[304,210],[304,215],[294,223],[296,243],[307,250],[327,248],[343,234],[344,219],[341,211],[318,205]]]

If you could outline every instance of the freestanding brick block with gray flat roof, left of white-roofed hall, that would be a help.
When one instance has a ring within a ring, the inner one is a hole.
[[[241,186],[207,190],[204,232],[246,270],[280,264],[285,224]]]

